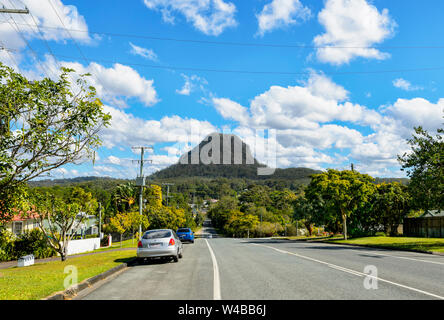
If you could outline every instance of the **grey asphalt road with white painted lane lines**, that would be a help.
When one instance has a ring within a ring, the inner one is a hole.
[[[208,226],[204,233],[214,234]],[[369,272],[372,272],[369,276]],[[377,272],[377,273],[375,273]],[[127,269],[88,300],[444,299],[444,257],[270,239],[197,239],[178,263]]]

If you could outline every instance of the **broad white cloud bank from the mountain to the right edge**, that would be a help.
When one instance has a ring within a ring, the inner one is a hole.
[[[222,117],[239,123],[235,133],[252,149],[255,130],[276,129],[278,166],[343,169],[354,162],[361,172],[381,177],[403,176],[397,156],[410,150],[406,139],[413,127],[436,132],[444,122],[444,98],[398,99],[378,110],[349,99],[345,88],[312,73],[302,85],[270,87],[249,107],[228,98],[212,102]]]

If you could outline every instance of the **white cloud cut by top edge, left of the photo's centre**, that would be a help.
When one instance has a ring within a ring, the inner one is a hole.
[[[179,12],[193,26],[207,35],[220,35],[226,28],[237,25],[236,6],[224,0],[144,0],[145,5],[162,13],[167,23],[174,23]]]

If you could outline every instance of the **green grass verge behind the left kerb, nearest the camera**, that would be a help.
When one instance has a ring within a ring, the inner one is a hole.
[[[131,240],[130,240],[131,241]],[[39,263],[29,267],[0,270],[0,300],[37,300],[62,291],[68,273],[66,266],[78,270],[78,282],[105,272],[135,256],[136,252],[114,251],[68,258],[66,261]]]

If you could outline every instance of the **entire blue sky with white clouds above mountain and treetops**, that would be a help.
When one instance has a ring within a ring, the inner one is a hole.
[[[211,132],[254,145],[271,129],[278,167],[353,162],[397,177],[413,126],[442,127],[440,0],[0,3],[32,14],[0,16],[0,44],[12,49],[0,61],[30,78],[55,77],[60,65],[91,72],[113,115],[96,163],[53,177],[132,178],[133,145],[154,146],[152,172]]]

